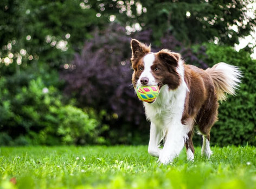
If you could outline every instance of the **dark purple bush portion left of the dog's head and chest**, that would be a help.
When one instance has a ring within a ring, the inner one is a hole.
[[[81,106],[106,110],[109,116],[116,113],[138,125],[143,108],[131,85],[130,40],[118,24],[95,31],[62,77],[67,82],[66,92],[74,92]],[[135,109],[135,104],[139,108]]]

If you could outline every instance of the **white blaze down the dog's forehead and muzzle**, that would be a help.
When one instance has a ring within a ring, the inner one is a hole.
[[[142,86],[142,83],[140,83],[140,79],[142,79],[143,77],[146,77],[149,79],[149,83],[147,85],[149,86],[157,85],[155,77],[153,77],[152,71],[151,71],[151,66],[153,65],[154,61],[155,61],[155,55],[153,53],[149,53],[143,58],[144,70],[138,79],[138,86]]]

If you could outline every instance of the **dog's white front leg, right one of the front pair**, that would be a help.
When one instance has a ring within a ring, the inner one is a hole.
[[[158,161],[162,164],[171,163],[183,149],[186,136],[187,134],[185,133],[182,123],[170,124],[168,126],[164,147]]]

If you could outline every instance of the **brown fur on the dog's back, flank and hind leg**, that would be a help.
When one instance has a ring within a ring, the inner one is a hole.
[[[204,70],[193,65],[184,65],[184,80],[189,91],[185,99],[182,123],[186,124],[188,119],[193,119],[194,125],[199,131],[210,139],[210,129],[217,120],[217,94],[211,77]],[[193,130],[188,134],[185,146],[193,152],[192,142]],[[193,152],[194,153],[194,152]]]

